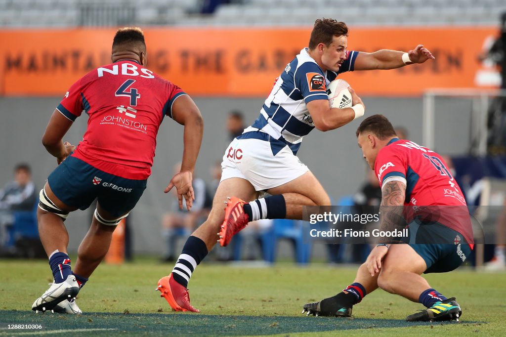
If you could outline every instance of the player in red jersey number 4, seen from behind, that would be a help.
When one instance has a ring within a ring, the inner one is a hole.
[[[42,142],[59,166],[40,191],[40,240],[54,283],[32,305],[34,311],[80,313],[75,296],[105,257],[117,223],[128,216],[146,188],[156,135],[165,116],[184,125],[181,171],[164,190],[176,187],[190,209],[192,174],[202,141],[203,121],[181,88],[146,68],[146,44],[139,28],[121,28],[112,43],[112,64],[77,80],[54,111]],[[88,128],[77,147],[62,138],[81,115]],[[92,225],[77,251],[74,270],[67,255],[69,212],[97,199]]]

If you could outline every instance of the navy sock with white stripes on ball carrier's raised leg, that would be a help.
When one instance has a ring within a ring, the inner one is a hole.
[[[244,213],[248,215],[249,221],[284,219],[286,217],[286,203],[282,194],[256,199],[245,203],[242,207]]]

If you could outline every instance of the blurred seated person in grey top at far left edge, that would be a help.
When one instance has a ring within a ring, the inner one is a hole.
[[[7,227],[13,224],[12,212],[33,209],[35,204],[35,184],[31,180],[31,169],[26,163],[14,168],[14,181],[0,190],[0,246],[7,243]]]

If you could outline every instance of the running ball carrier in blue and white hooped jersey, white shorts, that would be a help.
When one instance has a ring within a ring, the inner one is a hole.
[[[171,275],[158,281],[157,289],[174,310],[198,311],[190,305],[187,285],[196,266],[216,244],[217,232],[225,246],[249,221],[302,219],[303,206],[330,205],[323,186],[299,160],[297,151],[314,128],[340,128],[362,116],[365,109],[351,88],[353,107],[330,108],[326,86],[331,80],[345,71],[393,69],[434,59],[421,45],[407,53],[349,52],[347,46],[344,22],[316,20],[309,48],[285,67],[259,118],[226,149],[209,217],[186,241]],[[264,192],[272,196],[257,199]]]

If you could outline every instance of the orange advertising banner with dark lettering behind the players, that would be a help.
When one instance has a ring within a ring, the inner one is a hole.
[[[147,28],[147,67],[194,96],[266,96],[307,46],[304,28]],[[109,64],[115,29],[0,30],[0,94],[63,95],[79,77]],[[348,49],[408,51],[436,57],[395,70],[340,75],[359,95],[417,96],[427,88],[478,87],[477,57],[496,27],[351,28]],[[483,84],[483,83],[482,83]],[[485,85],[492,86],[485,81]]]

